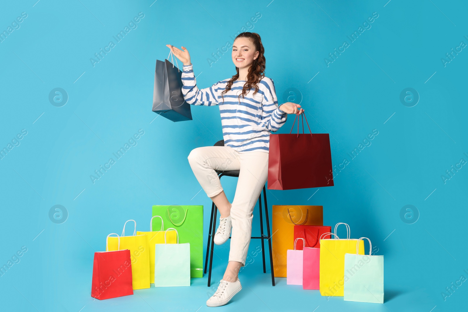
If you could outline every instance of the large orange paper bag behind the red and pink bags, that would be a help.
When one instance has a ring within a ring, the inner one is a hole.
[[[295,225],[323,225],[323,206],[273,205],[272,258],[275,277],[287,277],[286,251],[293,249]]]

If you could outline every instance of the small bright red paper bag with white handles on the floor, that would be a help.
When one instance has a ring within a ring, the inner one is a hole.
[[[115,233],[107,237],[112,234]],[[118,240],[120,249],[120,237]],[[130,250],[107,250],[106,239],[106,251],[94,253],[91,297],[102,300],[133,295]]]

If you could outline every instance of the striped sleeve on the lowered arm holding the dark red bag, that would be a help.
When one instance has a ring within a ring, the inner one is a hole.
[[[288,114],[278,108],[278,99],[273,80],[266,79],[260,83],[265,87],[262,101],[263,113],[261,125],[269,131],[276,132],[285,124]]]

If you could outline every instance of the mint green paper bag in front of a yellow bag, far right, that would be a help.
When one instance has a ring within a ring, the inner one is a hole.
[[[383,256],[371,255],[371,240],[361,239],[369,241],[369,255],[357,247],[356,254],[344,254],[344,300],[383,304]]]

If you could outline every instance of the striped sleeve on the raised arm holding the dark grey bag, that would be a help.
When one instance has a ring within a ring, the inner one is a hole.
[[[193,65],[183,65],[182,71],[182,93],[185,102],[192,105],[212,106],[218,105],[218,83],[205,89],[198,89],[195,74],[193,73]]]

